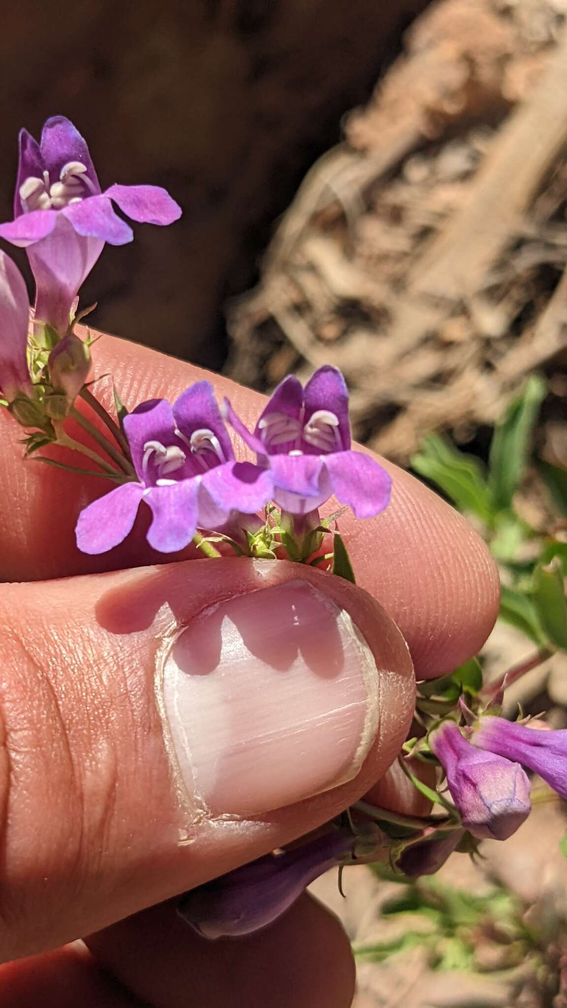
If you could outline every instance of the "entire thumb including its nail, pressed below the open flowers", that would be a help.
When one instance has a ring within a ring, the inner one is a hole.
[[[312,830],[385,771],[412,717],[378,603],[281,560],[4,586],[0,636],[4,960]]]

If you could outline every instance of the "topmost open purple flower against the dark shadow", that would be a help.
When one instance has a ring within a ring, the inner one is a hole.
[[[132,240],[112,201],[132,220],[148,224],[172,224],[181,209],[158,185],[111,185],[102,193],[89,148],[65,116],[47,119],[39,143],[22,129],[19,144],[14,220],[0,225],[0,236],[27,248],[35,318],[63,335],[105,242]]]

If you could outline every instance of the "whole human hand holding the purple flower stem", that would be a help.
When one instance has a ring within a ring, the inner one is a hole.
[[[172,399],[196,377],[108,337],[96,360],[127,403]],[[254,393],[213,381],[244,419],[257,412]],[[0,424],[0,577],[23,582],[0,587],[2,1005],[347,1006],[348,942],[309,897],[265,931],[217,942],[178,918],[174,897],[313,830],[373,785],[375,795],[380,779],[390,801],[414,800],[384,776],[413,711],[414,672],[391,620],[418,678],[475,653],[497,610],[482,542],[395,470],[382,515],[341,519],[359,588],[286,561],[140,569],[163,559],[142,534],[87,556],[73,528],[98,482],[23,465],[12,421],[2,413]],[[220,615],[233,655],[223,676]],[[185,626],[181,670],[168,662],[156,687],[164,644]],[[337,654],[340,674],[329,674]],[[79,935],[88,948],[66,946]]]

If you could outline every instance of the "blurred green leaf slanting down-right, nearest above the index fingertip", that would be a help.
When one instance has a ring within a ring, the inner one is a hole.
[[[436,483],[461,511],[471,511],[491,524],[494,507],[482,467],[472,456],[459,452],[447,438],[428,434],[411,460],[420,476]]]

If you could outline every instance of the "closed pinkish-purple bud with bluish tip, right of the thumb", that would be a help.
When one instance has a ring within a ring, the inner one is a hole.
[[[430,746],[445,768],[463,826],[480,839],[512,837],[530,814],[530,781],[522,767],[479,752],[451,721],[432,732]]]

